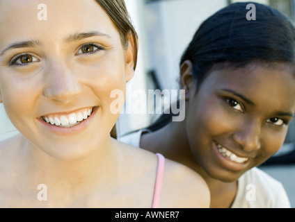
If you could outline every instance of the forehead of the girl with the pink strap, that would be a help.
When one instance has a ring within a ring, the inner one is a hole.
[[[99,31],[116,36],[113,22],[95,0],[0,0],[0,47],[31,39]]]

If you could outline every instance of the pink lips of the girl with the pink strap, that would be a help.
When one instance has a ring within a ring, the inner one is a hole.
[[[50,123],[47,123],[46,121],[44,121],[44,119],[42,117],[38,117],[37,119],[42,124],[42,126],[44,126],[49,131],[51,131],[51,133],[54,133],[56,135],[74,135],[77,133],[81,133],[84,130],[86,130],[86,128],[88,128],[89,124],[91,123],[91,121],[95,117],[95,114],[97,114],[98,109],[99,109],[99,107],[94,106],[93,112],[90,114],[90,116],[87,119],[81,121],[81,123],[77,124],[76,126],[72,126],[69,128],[51,125]],[[80,110],[80,109],[78,109],[78,110]],[[54,113],[54,114],[68,114],[68,113],[70,113],[70,112],[59,112],[59,113]]]

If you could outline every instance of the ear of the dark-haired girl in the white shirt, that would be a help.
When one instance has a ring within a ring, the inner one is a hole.
[[[196,81],[193,78],[193,62],[185,60],[180,66],[180,89],[185,89],[185,100],[193,94]]]

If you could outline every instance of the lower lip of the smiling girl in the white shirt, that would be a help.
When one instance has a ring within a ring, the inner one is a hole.
[[[231,171],[242,171],[242,170],[246,169],[246,167],[248,166],[248,162],[250,161],[250,157],[246,157],[246,158],[248,158],[248,160],[246,162],[242,162],[242,163],[234,162],[234,161],[228,159],[227,157],[223,156],[218,151],[216,142],[213,142],[213,150],[214,150],[214,153],[217,157],[218,163],[221,164],[223,167],[230,169]],[[232,152],[232,153],[234,153],[234,152]]]

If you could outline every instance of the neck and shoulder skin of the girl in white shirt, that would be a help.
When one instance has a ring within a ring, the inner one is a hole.
[[[211,208],[228,208],[232,205],[237,194],[237,182],[222,182],[211,178],[196,164],[189,148],[189,143],[184,136],[184,121],[170,122],[157,131],[145,133],[141,137],[141,148],[162,153],[166,158],[180,162],[197,171],[205,178],[211,193]],[[174,135],[171,137],[171,135]],[[181,148],[180,148],[181,147]],[[201,173],[202,172],[202,173]]]

